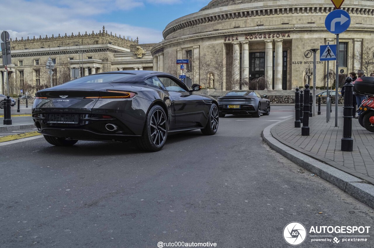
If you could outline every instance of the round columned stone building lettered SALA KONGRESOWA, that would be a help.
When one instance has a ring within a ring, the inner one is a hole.
[[[166,26],[165,40],[151,50],[153,69],[185,73],[217,90],[248,89],[249,81],[261,77],[269,90],[291,90],[307,83],[309,49],[335,44],[324,25],[334,9],[330,0],[212,0]],[[339,70],[349,73],[361,69],[360,58],[374,45],[374,1],[345,0],[341,9],[351,24],[339,37]],[[324,86],[327,62],[319,61],[319,51],[317,58],[317,86]],[[189,59],[184,72],[177,59]]]

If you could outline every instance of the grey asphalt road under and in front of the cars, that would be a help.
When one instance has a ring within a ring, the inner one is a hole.
[[[214,136],[169,136],[157,153],[131,143],[53,147],[43,138],[1,145],[0,247],[290,247],[289,222],[373,226],[372,208],[263,143],[264,127],[293,114],[292,106],[272,110],[220,118]],[[338,246],[374,247],[373,239]],[[334,246],[308,237],[299,247]]]

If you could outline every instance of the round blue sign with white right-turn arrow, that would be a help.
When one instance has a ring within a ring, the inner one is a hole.
[[[341,9],[330,12],[325,19],[325,27],[332,34],[341,34],[349,28],[350,16]]]

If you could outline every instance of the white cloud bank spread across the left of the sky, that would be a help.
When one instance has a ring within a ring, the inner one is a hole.
[[[0,4],[3,0],[0,0]],[[12,0],[7,1],[6,12],[1,12],[0,29],[7,30],[11,38],[33,38],[52,34],[70,35],[98,32],[102,26],[108,32],[129,36],[140,43],[156,43],[162,40],[162,29],[132,26],[124,23],[102,22],[95,15],[115,10],[129,10],[144,6],[148,0]],[[50,3],[53,4],[50,4]],[[153,0],[153,3],[173,4],[179,0]],[[3,4],[2,4],[3,5]],[[163,28],[163,27],[162,27]]]

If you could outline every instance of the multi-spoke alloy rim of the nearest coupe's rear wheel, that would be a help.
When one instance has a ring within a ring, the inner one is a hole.
[[[151,117],[151,139],[154,145],[161,146],[166,138],[166,117],[165,114],[157,109]]]

